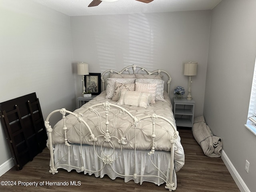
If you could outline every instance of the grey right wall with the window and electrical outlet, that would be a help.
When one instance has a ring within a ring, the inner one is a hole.
[[[256,1],[222,0],[212,11],[204,116],[251,192],[256,136],[244,127],[256,57]],[[244,170],[250,162],[249,173]]]

